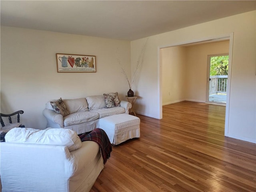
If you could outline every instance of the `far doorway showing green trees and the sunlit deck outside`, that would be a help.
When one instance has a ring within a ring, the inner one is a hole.
[[[229,55],[208,55],[206,103],[226,105]]]

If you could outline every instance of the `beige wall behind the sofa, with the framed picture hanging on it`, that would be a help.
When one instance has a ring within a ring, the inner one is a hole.
[[[95,55],[97,72],[57,73],[56,53]],[[129,41],[1,26],[1,112],[24,110],[26,127],[44,129],[48,100],[116,91],[125,99],[117,57],[130,76]]]

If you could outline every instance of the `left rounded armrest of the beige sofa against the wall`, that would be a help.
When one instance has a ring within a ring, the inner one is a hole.
[[[64,128],[64,120],[61,114],[58,114],[55,111],[50,109],[44,109],[43,115],[47,119],[47,127]]]

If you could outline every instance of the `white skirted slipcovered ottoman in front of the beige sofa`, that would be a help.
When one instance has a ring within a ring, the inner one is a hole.
[[[112,115],[100,118],[99,128],[106,132],[111,144],[117,145],[140,137],[140,118],[128,114]]]

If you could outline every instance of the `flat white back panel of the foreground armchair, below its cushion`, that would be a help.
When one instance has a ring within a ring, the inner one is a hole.
[[[66,146],[10,142],[0,146],[3,191],[69,191],[68,179],[75,168]]]

